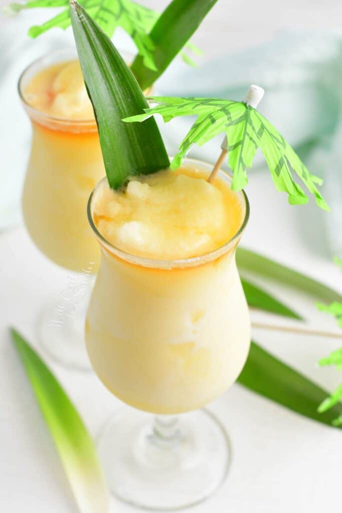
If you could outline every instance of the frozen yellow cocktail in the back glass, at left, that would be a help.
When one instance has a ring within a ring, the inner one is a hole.
[[[23,73],[19,92],[33,130],[23,194],[27,229],[55,263],[95,271],[99,250],[86,206],[105,169],[81,67],[70,52],[43,57]]]

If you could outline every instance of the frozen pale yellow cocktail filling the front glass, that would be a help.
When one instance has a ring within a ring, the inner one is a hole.
[[[106,180],[89,202],[102,249],[86,321],[92,366],[136,408],[199,408],[236,380],[250,345],[248,307],[235,264],[247,222],[243,192],[224,173],[186,161],[177,171]]]

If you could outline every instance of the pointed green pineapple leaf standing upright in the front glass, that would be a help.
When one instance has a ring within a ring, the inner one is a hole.
[[[76,2],[70,6],[77,52],[94,107],[110,187],[122,187],[129,176],[169,167],[162,137],[152,117],[144,126],[122,121],[148,108],[131,71],[85,10]]]

